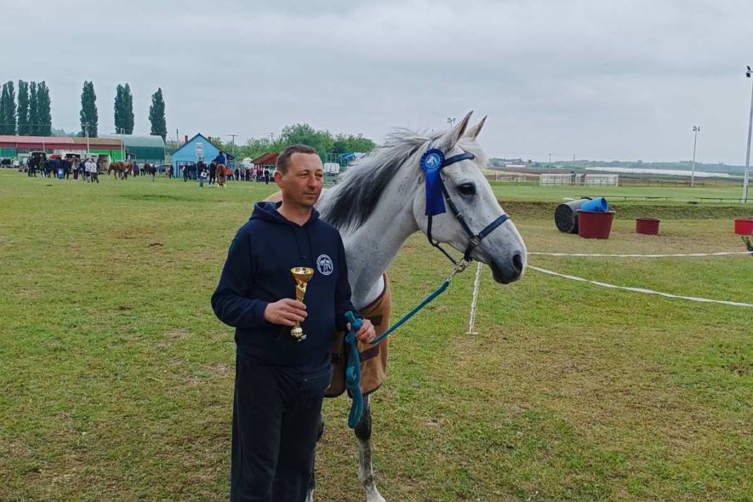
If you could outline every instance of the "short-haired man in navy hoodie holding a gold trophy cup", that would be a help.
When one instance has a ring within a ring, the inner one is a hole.
[[[350,302],[340,234],[314,209],[324,171],[316,150],[285,148],[275,181],[282,202],[259,202],[227,253],[212,308],[236,328],[236,380],[230,500],[303,502],[322,400],[331,379],[330,347],[349,329]],[[290,269],[315,270],[304,303]],[[301,322],[306,339],[290,334]],[[376,336],[364,320],[356,333]]]

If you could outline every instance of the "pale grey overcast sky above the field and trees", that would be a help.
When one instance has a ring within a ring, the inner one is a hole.
[[[489,115],[494,157],[745,162],[749,0],[0,0],[33,36],[0,39],[0,80],[47,81],[53,126],[78,130],[94,82],[99,130],[115,87],[149,132],[162,87],[170,135],[310,123],[381,141],[389,129]],[[4,21],[5,23],[5,21]]]

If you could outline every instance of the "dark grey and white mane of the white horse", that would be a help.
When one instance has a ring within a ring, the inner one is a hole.
[[[328,190],[328,196],[319,205],[322,218],[343,230],[364,224],[373,214],[382,193],[401,166],[443,134],[444,132],[421,135],[409,129],[395,129],[377,150],[362,157],[346,172],[337,176],[335,186]],[[476,141],[464,137],[458,142],[458,146],[475,154],[482,165],[486,165],[486,156]],[[418,162],[404,169],[415,169],[416,176],[420,173]]]

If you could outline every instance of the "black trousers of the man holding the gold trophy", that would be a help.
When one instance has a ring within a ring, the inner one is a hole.
[[[236,355],[230,502],[304,502],[331,380]]]

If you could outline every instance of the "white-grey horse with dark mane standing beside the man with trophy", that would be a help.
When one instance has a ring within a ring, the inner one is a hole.
[[[453,129],[433,137],[398,130],[322,194],[317,208],[322,218],[343,236],[352,302],[357,309],[380,297],[385,288],[384,272],[406,239],[419,230],[430,240],[447,243],[489,265],[498,283],[508,284],[523,275],[526,245],[481,170],[486,166],[486,157],[476,138],[486,117],[468,129],[470,118],[471,113]],[[447,212],[434,217],[426,216],[425,175],[421,169],[422,156],[430,148],[443,152],[450,160],[451,165],[441,169],[441,179],[445,196],[455,206],[452,208],[448,201]],[[479,238],[480,234],[483,235]],[[320,437],[323,431],[322,416]],[[371,465],[368,396],[364,397],[364,411],[355,436],[359,445],[358,479],[366,491],[366,500],[385,502],[377,490]],[[312,476],[308,502],[314,500],[314,486]]]

